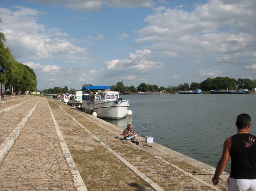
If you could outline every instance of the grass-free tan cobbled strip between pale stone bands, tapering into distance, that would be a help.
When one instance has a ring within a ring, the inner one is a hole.
[[[46,98],[0,165],[0,177],[1,190],[76,190]]]

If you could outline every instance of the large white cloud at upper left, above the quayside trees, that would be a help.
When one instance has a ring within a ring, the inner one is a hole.
[[[13,12],[1,9],[1,17],[5,21],[1,23],[1,28],[7,38],[6,44],[11,47],[15,58],[69,60],[73,55],[88,52],[87,48],[59,38],[68,36],[60,28],[47,29],[45,25],[38,24],[36,19],[42,13],[32,8],[16,8]]]

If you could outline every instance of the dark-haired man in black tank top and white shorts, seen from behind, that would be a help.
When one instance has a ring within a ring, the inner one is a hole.
[[[238,115],[236,127],[237,134],[224,142],[221,159],[212,181],[217,185],[230,156],[231,172],[227,179],[228,191],[256,191],[256,136],[249,133],[250,116],[245,113]]]

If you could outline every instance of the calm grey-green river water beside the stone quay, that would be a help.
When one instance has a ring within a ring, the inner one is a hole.
[[[140,136],[216,167],[224,140],[236,134],[236,117],[252,118],[256,135],[256,94],[123,95],[130,99],[133,114],[107,122],[133,130]],[[230,160],[226,172],[230,172]]]

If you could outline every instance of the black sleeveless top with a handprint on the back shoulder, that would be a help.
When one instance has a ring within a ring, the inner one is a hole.
[[[256,179],[256,137],[249,133],[231,137],[230,177],[236,179]]]

